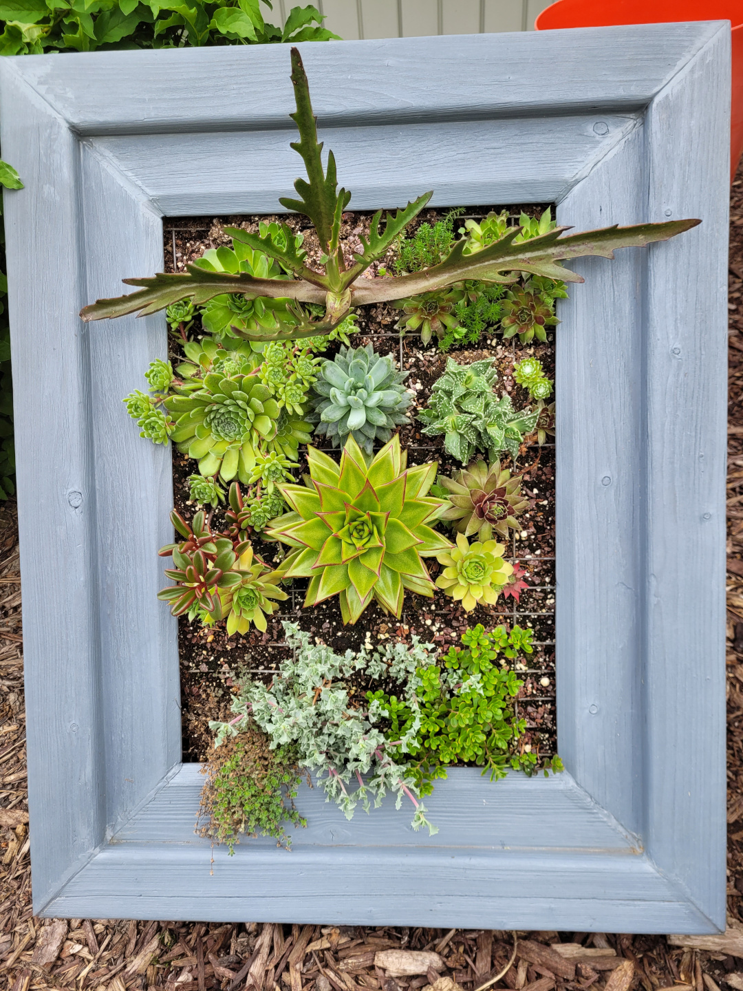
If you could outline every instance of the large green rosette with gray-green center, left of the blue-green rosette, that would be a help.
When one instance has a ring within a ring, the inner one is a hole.
[[[279,408],[265,385],[255,376],[210,372],[197,391],[163,403],[178,417],[173,442],[198,461],[205,478],[219,473],[224,482],[237,476],[248,484],[256,451],[276,433]]]

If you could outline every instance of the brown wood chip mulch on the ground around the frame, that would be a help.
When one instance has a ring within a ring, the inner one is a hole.
[[[31,908],[15,506],[0,506],[0,984],[10,991],[743,991],[743,169],[731,196],[722,936],[42,920]],[[514,936],[517,937],[515,954]],[[510,965],[509,965],[510,964]],[[507,969],[506,969],[507,968]]]

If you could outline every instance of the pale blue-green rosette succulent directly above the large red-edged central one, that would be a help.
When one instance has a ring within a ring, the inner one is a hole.
[[[314,408],[307,418],[317,424],[315,434],[326,436],[333,447],[353,434],[371,454],[374,441],[385,443],[395,426],[410,422],[405,410],[411,396],[402,385],[407,375],[396,371],[391,355],[380,357],[371,344],[341,347],[333,361],[321,366],[310,395]]]

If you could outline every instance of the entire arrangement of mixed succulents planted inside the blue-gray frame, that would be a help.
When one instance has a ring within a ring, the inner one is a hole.
[[[190,459],[198,469],[182,483],[196,511],[188,521],[173,510],[176,541],[159,551],[172,559],[172,584],[159,598],[174,615],[254,646],[254,630],[267,633],[285,589],[299,580],[307,583],[305,608],[337,599],[344,624],[357,623],[371,603],[401,619],[406,593],[485,614],[501,596],[518,602],[527,576],[506,559],[505,542],[529,503],[512,473],[526,446],[535,437],[544,445],[555,429],[553,383],[536,345],[559,322],[555,301],[566,296],[565,282],[583,281],[562,263],[610,259],[616,248],[666,240],[697,221],[566,235],[549,210],[522,214],[517,224],[493,211],[466,217],[458,237],[463,211],[455,210],[416,221],[407,236],[426,192],[383,219],[377,211],[367,233],[355,229],[349,255],[341,234],[351,193],[338,186],[333,153],[321,156],[296,49],[291,69],[299,132],[292,148],[307,178],[279,202],[309,220],[310,236],[276,221],[228,227],[231,248],[208,250],[183,273],[125,279],[137,291],[81,311],[91,320],[165,310],[171,330],[173,360],[153,362],[147,390],[124,400],[143,437],[171,441],[184,456],[178,464]],[[493,358],[449,358],[427,400],[416,395],[411,422],[407,371],[352,340],[360,317],[366,332],[361,308],[387,303],[401,311],[400,333],[419,334],[422,346],[475,343],[487,329],[512,342],[515,358],[517,342],[534,342],[514,362],[514,380],[534,406],[514,408]],[[341,448],[340,459],[313,446],[313,433],[329,450]],[[463,468],[434,485],[436,461],[408,467],[401,437],[411,433],[442,438]],[[456,542],[439,528],[446,526]],[[440,566],[435,582],[430,558]],[[530,773],[541,759],[522,739],[526,726],[512,700],[523,685],[508,663],[531,653],[530,630],[485,632],[478,624],[445,656],[413,637],[340,657],[283,625],[292,656],[270,683],[241,684],[235,718],[212,725],[205,835],[232,845],[241,832],[263,831],[288,845],[283,822],[303,822],[293,805],[302,773],[348,818],[391,792],[398,807],[411,801],[415,828],[434,832],[422,798],[447,765],[474,763],[497,778],[507,767]],[[541,763],[545,772],[562,767],[559,758]]]

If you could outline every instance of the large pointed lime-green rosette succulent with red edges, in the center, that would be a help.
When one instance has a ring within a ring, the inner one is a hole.
[[[399,618],[404,590],[433,597],[423,563],[452,544],[429,525],[442,499],[428,496],[436,462],[407,468],[396,435],[374,458],[349,437],[340,466],[309,446],[305,485],[279,486],[292,508],[266,535],[293,548],[281,571],[309,578],[304,606],[338,596],[344,623],[372,600]]]

